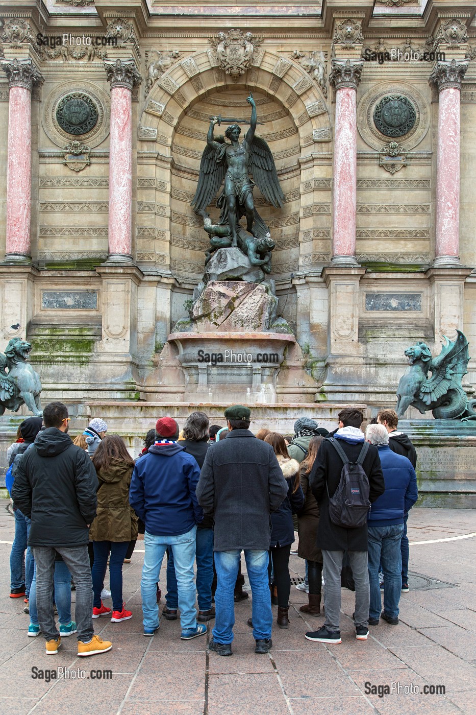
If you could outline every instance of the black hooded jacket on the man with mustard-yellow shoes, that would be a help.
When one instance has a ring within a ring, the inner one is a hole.
[[[91,460],[69,435],[56,427],[40,432],[19,462],[11,495],[31,518],[29,546],[87,544],[97,486]]]

